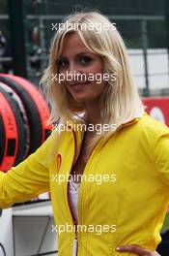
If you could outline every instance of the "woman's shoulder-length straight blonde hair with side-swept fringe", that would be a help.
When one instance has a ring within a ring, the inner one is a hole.
[[[58,73],[57,60],[62,52],[63,42],[69,33],[76,31],[82,43],[92,52],[99,54],[103,60],[104,73],[116,74],[116,80],[108,80],[103,92],[99,96],[100,122],[102,124],[116,124],[120,128],[127,119],[134,118],[143,112],[144,106],[138,94],[137,87],[131,75],[127,49],[124,41],[105,16],[98,12],[77,13],[68,16],[63,23],[63,29],[54,35],[50,48],[49,65],[42,76],[42,87],[47,101],[51,106],[51,122],[57,121],[58,115],[63,120],[73,123],[84,123],[80,113],[85,112],[84,105],[77,103],[71,97],[65,86],[52,80],[52,74]],[[67,23],[67,26],[66,26]],[[94,24],[94,29],[73,29],[73,24]],[[109,29],[97,30],[97,24],[107,24]],[[65,24],[65,28],[64,28]],[[95,26],[96,25],[96,26]],[[68,29],[69,28],[69,29]],[[96,144],[102,136],[109,137],[114,131],[102,131],[96,136]]]

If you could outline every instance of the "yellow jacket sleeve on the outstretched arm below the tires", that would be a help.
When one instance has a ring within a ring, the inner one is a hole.
[[[29,157],[7,173],[0,172],[0,208],[25,202],[49,190],[49,159],[55,131]]]

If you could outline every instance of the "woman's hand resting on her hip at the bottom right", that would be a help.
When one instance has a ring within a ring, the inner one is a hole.
[[[135,255],[139,256],[160,256],[156,251],[150,251],[147,249],[144,249],[138,245],[123,245],[123,246],[118,246],[116,248],[116,251],[118,252],[131,252]]]

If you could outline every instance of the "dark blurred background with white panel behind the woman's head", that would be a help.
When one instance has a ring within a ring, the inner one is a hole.
[[[140,93],[168,95],[168,0],[0,0],[0,71],[37,81],[48,61],[51,24],[84,9],[117,23]]]

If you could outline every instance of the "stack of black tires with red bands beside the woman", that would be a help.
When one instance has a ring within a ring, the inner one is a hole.
[[[48,137],[49,108],[33,83],[0,74],[0,171],[7,172]]]

